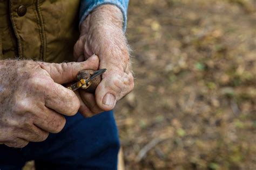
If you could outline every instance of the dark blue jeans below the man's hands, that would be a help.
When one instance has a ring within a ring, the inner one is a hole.
[[[0,169],[21,169],[29,160],[36,169],[117,169],[119,145],[112,111],[91,118],[78,113],[43,142],[22,149],[0,145]]]

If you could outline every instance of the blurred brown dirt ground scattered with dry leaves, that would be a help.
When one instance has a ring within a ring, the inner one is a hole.
[[[126,169],[256,169],[256,1],[131,0]]]

